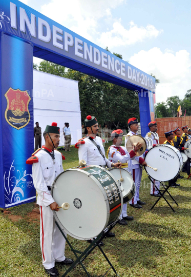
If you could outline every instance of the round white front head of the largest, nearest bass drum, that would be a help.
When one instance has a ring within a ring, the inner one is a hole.
[[[104,195],[94,179],[80,170],[60,173],[52,188],[55,202],[61,206],[68,202],[68,210],[54,212],[55,219],[73,238],[88,240],[97,236],[107,222],[107,205]]]

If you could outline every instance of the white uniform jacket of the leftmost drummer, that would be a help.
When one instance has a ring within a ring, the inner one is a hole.
[[[55,178],[63,171],[62,156],[54,150],[55,164],[52,157],[44,150],[39,150],[35,156],[38,163],[32,165],[33,184],[38,193],[37,204],[39,206],[49,206],[54,202],[50,190],[47,186],[52,186]]]

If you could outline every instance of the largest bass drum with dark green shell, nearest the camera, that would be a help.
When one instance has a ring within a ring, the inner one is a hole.
[[[67,234],[78,240],[95,238],[118,220],[123,196],[118,181],[100,166],[84,166],[61,172],[54,181],[51,195],[68,210],[53,211],[54,217]]]

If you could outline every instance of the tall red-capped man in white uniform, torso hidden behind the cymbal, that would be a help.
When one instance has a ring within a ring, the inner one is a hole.
[[[132,135],[137,135],[137,131],[139,129],[137,118],[132,117],[128,120],[128,125],[130,128],[130,132],[125,137],[125,145],[128,141],[128,138]],[[146,162],[144,161],[144,154],[138,157],[135,157],[134,160],[130,160],[128,163],[128,171],[131,172],[133,176],[133,181],[135,182],[135,195],[133,199],[130,201],[130,206],[140,209],[142,208],[142,205],[145,205],[146,203],[143,201],[140,201],[139,199],[139,188],[141,184],[141,177],[142,177],[142,169],[140,168],[140,165],[147,166]]]

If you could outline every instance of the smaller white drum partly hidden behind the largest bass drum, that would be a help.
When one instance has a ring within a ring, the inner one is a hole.
[[[123,195],[123,204],[130,202],[135,195],[135,183],[133,181],[131,173],[124,168],[121,168],[121,174],[119,168],[112,168],[109,171],[112,173],[115,179],[118,180],[118,182],[122,176],[124,181],[120,182],[120,188]]]

